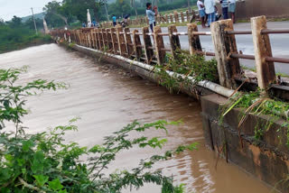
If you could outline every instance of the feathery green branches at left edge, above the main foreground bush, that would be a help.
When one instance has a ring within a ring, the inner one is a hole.
[[[26,97],[39,95],[44,90],[56,90],[66,88],[61,82],[37,79],[27,84],[16,82],[19,76],[27,71],[27,67],[21,69],[0,69],[0,129],[5,127],[4,121],[13,122],[16,125],[16,134],[23,132],[22,117],[28,114],[24,108]]]

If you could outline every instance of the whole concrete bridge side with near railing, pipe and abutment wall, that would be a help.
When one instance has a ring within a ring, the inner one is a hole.
[[[77,51],[115,63],[156,83],[158,83],[158,75],[154,64],[166,65],[166,52],[170,52],[172,58],[175,58],[177,51],[182,49],[181,42],[183,41],[180,37],[187,36],[191,54],[213,56],[218,62],[219,84],[204,80],[194,85],[194,77],[188,77],[191,81],[190,85],[188,87],[180,85],[182,92],[200,98],[207,145],[215,152],[222,152],[225,146],[227,161],[238,164],[257,178],[287,192],[286,183],[288,182],[278,183],[289,171],[286,134],[281,134],[282,144],[278,143],[276,134],[282,124],[275,122],[273,128],[265,133],[264,139],[260,142],[256,142],[252,137],[256,124],[266,122],[266,118],[262,116],[250,116],[247,124],[242,126],[241,132],[238,126],[240,113],[238,110],[225,117],[224,125],[218,124],[219,106],[237,92],[234,90],[236,88],[242,89],[248,85],[248,87],[257,85],[268,93],[275,93],[275,97],[289,99],[287,97],[288,83],[282,78],[276,78],[274,63],[289,63],[289,59],[273,56],[269,37],[269,34],[288,34],[289,29],[268,29],[265,16],[252,18],[251,26],[250,30],[238,31],[234,29],[233,23],[227,20],[213,23],[210,32],[199,32],[197,25],[191,23],[188,24],[186,32],[178,32],[174,25],[169,26],[167,32],[156,26],[154,33],[150,33],[148,27],[142,28],[142,32],[139,32],[136,29],[130,31],[128,28],[122,29],[121,26],[117,26],[116,29],[54,31],[51,35],[60,43],[62,41],[73,42],[70,47]],[[253,37],[254,54],[244,54],[238,51],[236,36],[240,35]],[[200,36],[211,37],[214,52],[203,51]],[[163,37],[168,38],[169,47],[165,46]],[[256,77],[249,78],[249,81],[242,77],[239,59],[255,60]],[[187,78],[170,70],[166,70],[166,73],[172,78]],[[248,84],[244,86],[246,82]],[[282,131],[285,132],[285,130]]]

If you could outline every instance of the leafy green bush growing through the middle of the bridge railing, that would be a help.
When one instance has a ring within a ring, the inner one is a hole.
[[[188,51],[176,51],[176,56],[167,56],[168,62],[165,66],[156,66],[156,72],[159,76],[159,83],[167,87],[170,92],[179,90],[181,87],[188,86],[189,79],[194,79],[193,85],[198,84],[202,80],[210,80],[212,82],[219,81],[217,61],[205,60],[204,56],[199,54],[191,55]],[[185,78],[177,76],[176,74],[171,77],[167,74],[166,70],[176,72],[184,75]]]

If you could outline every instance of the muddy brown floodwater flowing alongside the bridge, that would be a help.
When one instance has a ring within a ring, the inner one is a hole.
[[[200,104],[190,97],[170,95],[163,87],[117,69],[114,65],[100,64],[55,44],[0,55],[1,68],[24,65],[30,66],[30,69],[23,75],[23,82],[46,78],[70,84],[67,90],[48,92],[29,99],[31,114],[25,117],[24,124],[30,127],[30,132],[41,132],[49,126],[66,124],[71,118],[80,116],[79,132],[68,133],[67,140],[92,146],[135,119],[142,123],[182,119],[183,124],[169,128],[169,135],[166,136],[169,142],[165,149],[200,142],[199,150],[185,152],[156,167],[167,174],[173,173],[176,183],[186,184],[187,192],[270,192],[271,188],[235,165],[219,160],[215,168],[217,156],[204,145]],[[156,131],[146,134],[164,136],[164,133]],[[110,170],[129,169],[136,166],[139,159],[164,152],[165,149],[135,148],[122,152]],[[160,188],[148,185],[132,192],[157,193]]]

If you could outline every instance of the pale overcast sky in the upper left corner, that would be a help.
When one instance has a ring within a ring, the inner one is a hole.
[[[34,14],[41,13],[43,6],[51,1],[52,0],[0,0],[0,18],[7,21],[14,15],[19,17],[31,15],[31,7],[33,7]]]

